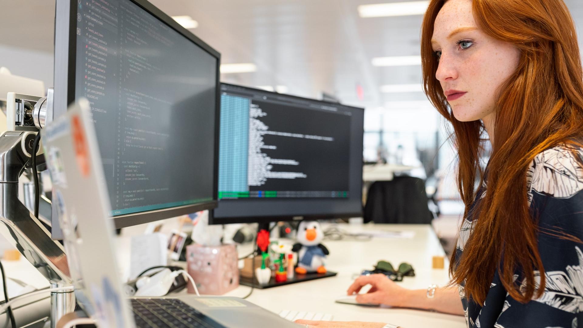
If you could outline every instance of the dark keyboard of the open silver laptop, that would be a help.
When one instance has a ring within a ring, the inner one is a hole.
[[[139,328],[225,328],[180,299],[139,298],[131,302]]]

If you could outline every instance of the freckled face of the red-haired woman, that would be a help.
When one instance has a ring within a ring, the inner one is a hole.
[[[472,0],[448,0],[434,23],[436,78],[459,121],[490,118],[500,86],[518,67],[520,52],[480,30]]]

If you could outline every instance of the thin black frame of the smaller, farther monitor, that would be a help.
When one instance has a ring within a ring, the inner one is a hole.
[[[363,107],[350,106],[350,105],[346,105],[346,104],[342,104],[342,103],[328,102],[325,100],[312,99],[312,98],[308,98],[308,97],[288,95],[287,93],[283,94],[283,93],[268,91],[268,90],[264,90],[264,89],[253,88],[251,86],[236,85],[236,84],[232,84],[232,83],[221,82],[220,85],[221,86],[223,86],[223,85],[232,86],[232,87],[236,87],[236,88],[245,88],[245,89],[249,89],[249,90],[257,90],[259,92],[265,92],[265,93],[273,93],[275,95],[283,95],[283,96],[290,97],[290,98],[308,100],[310,102],[318,102],[318,103],[325,104],[327,106],[350,107],[352,109],[362,111],[363,116],[364,116],[364,108]],[[219,88],[219,91],[221,89],[222,88]],[[220,134],[219,134],[219,138],[220,138]],[[363,138],[364,138],[364,125],[363,125]],[[219,140],[219,142],[220,142],[220,140]],[[360,143],[360,145],[362,148],[364,148],[364,145],[362,142]],[[360,153],[362,153],[362,150],[360,151]],[[360,165],[359,172],[360,172],[360,177],[362,177],[363,165]],[[218,182],[218,179],[217,179],[217,182]],[[363,186],[363,183],[361,182],[360,188],[359,188],[359,200],[361,203],[362,203],[362,197],[363,197],[362,186]],[[217,191],[217,193],[218,193],[218,191]],[[220,201],[218,201],[217,206],[220,206]],[[362,215],[363,215],[363,208],[362,207],[361,207],[361,210],[359,212],[336,212],[336,213],[329,213],[329,214],[310,214],[310,213],[300,211],[300,212],[296,212],[294,214],[286,214],[286,215],[261,215],[261,216],[253,215],[253,216],[220,217],[220,218],[216,218],[215,211],[210,210],[209,211],[209,224],[235,224],[235,223],[240,224],[240,223],[255,223],[255,222],[268,223],[268,222],[275,222],[275,221],[298,221],[298,220],[303,220],[303,219],[314,219],[314,220],[345,219],[345,218],[352,218],[352,217],[362,217]]]

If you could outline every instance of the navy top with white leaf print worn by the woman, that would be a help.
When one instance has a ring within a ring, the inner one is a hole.
[[[578,154],[583,156],[583,150]],[[583,168],[572,152],[557,146],[537,155],[527,173],[527,187],[543,231],[558,228],[583,240]],[[477,193],[476,201],[483,191]],[[472,232],[471,225],[472,218],[463,221],[456,259]],[[461,285],[459,296],[469,328],[583,327],[583,244],[539,233],[538,247],[546,276],[543,295],[526,304],[515,301],[496,273],[480,306],[466,298]],[[540,281],[538,271],[535,277]],[[521,280],[518,275],[515,278]]]

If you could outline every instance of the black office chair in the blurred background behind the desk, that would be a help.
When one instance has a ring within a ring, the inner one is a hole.
[[[425,183],[410,176],[371,184],[364,205],[364,222],[430,224],[433,214],[427,206]]]

